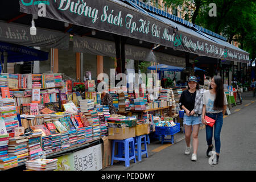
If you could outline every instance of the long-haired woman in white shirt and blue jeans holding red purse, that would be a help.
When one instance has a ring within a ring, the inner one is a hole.
[[[203,113],[202,113],[202,122],[205,124],[206,136],[207,136],[207,156],[209,152],[213,150],[212,137],[213,137],[213,127],[207,125],[204,117],[208,117],[215,120],[214,123],[214,141],[216,146],[217,153],[217,163],[220,157],[220,133],[223,123],[223,115],[226,112],[226,105],[228,101],[224,93],[223,82],[220,76],[214,76],[210,82],[210,89],[204,92],[203,96]]]

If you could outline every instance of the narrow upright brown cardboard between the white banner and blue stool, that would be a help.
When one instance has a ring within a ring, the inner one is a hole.
[[[112,156],[112,141],[109,137],[103,137],[102,169],[110,166]]]

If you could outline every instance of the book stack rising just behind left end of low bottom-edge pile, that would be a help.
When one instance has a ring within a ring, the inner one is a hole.
[[[28,155],[30,160],[39,159],[42,153],[42,148],[40,146],[41,138],[40,136],[34,136],[28,138]]]

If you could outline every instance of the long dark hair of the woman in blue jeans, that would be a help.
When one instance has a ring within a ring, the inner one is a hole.
[[[214,76],[213,79],[216,84],[216,97],[214,100],[213,109],[221,110],[224,108],[224,88],[222,78],[217,75]],[[212,86],[210,86],[210,89],[212,89]]]

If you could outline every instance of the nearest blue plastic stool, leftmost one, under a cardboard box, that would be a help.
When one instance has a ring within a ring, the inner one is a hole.
[[[118,143],[117,156],[115,156],[115,143]],[[131,152],[129,147],[131,147]],[[122,161],[125,161],[125,167],[129,167],[131,159],[134,159],[134,163],[136,163],[134,139],[127,138],[123,140],[113,140],[111,165],[113,165],[114,160],[122,160]]]

